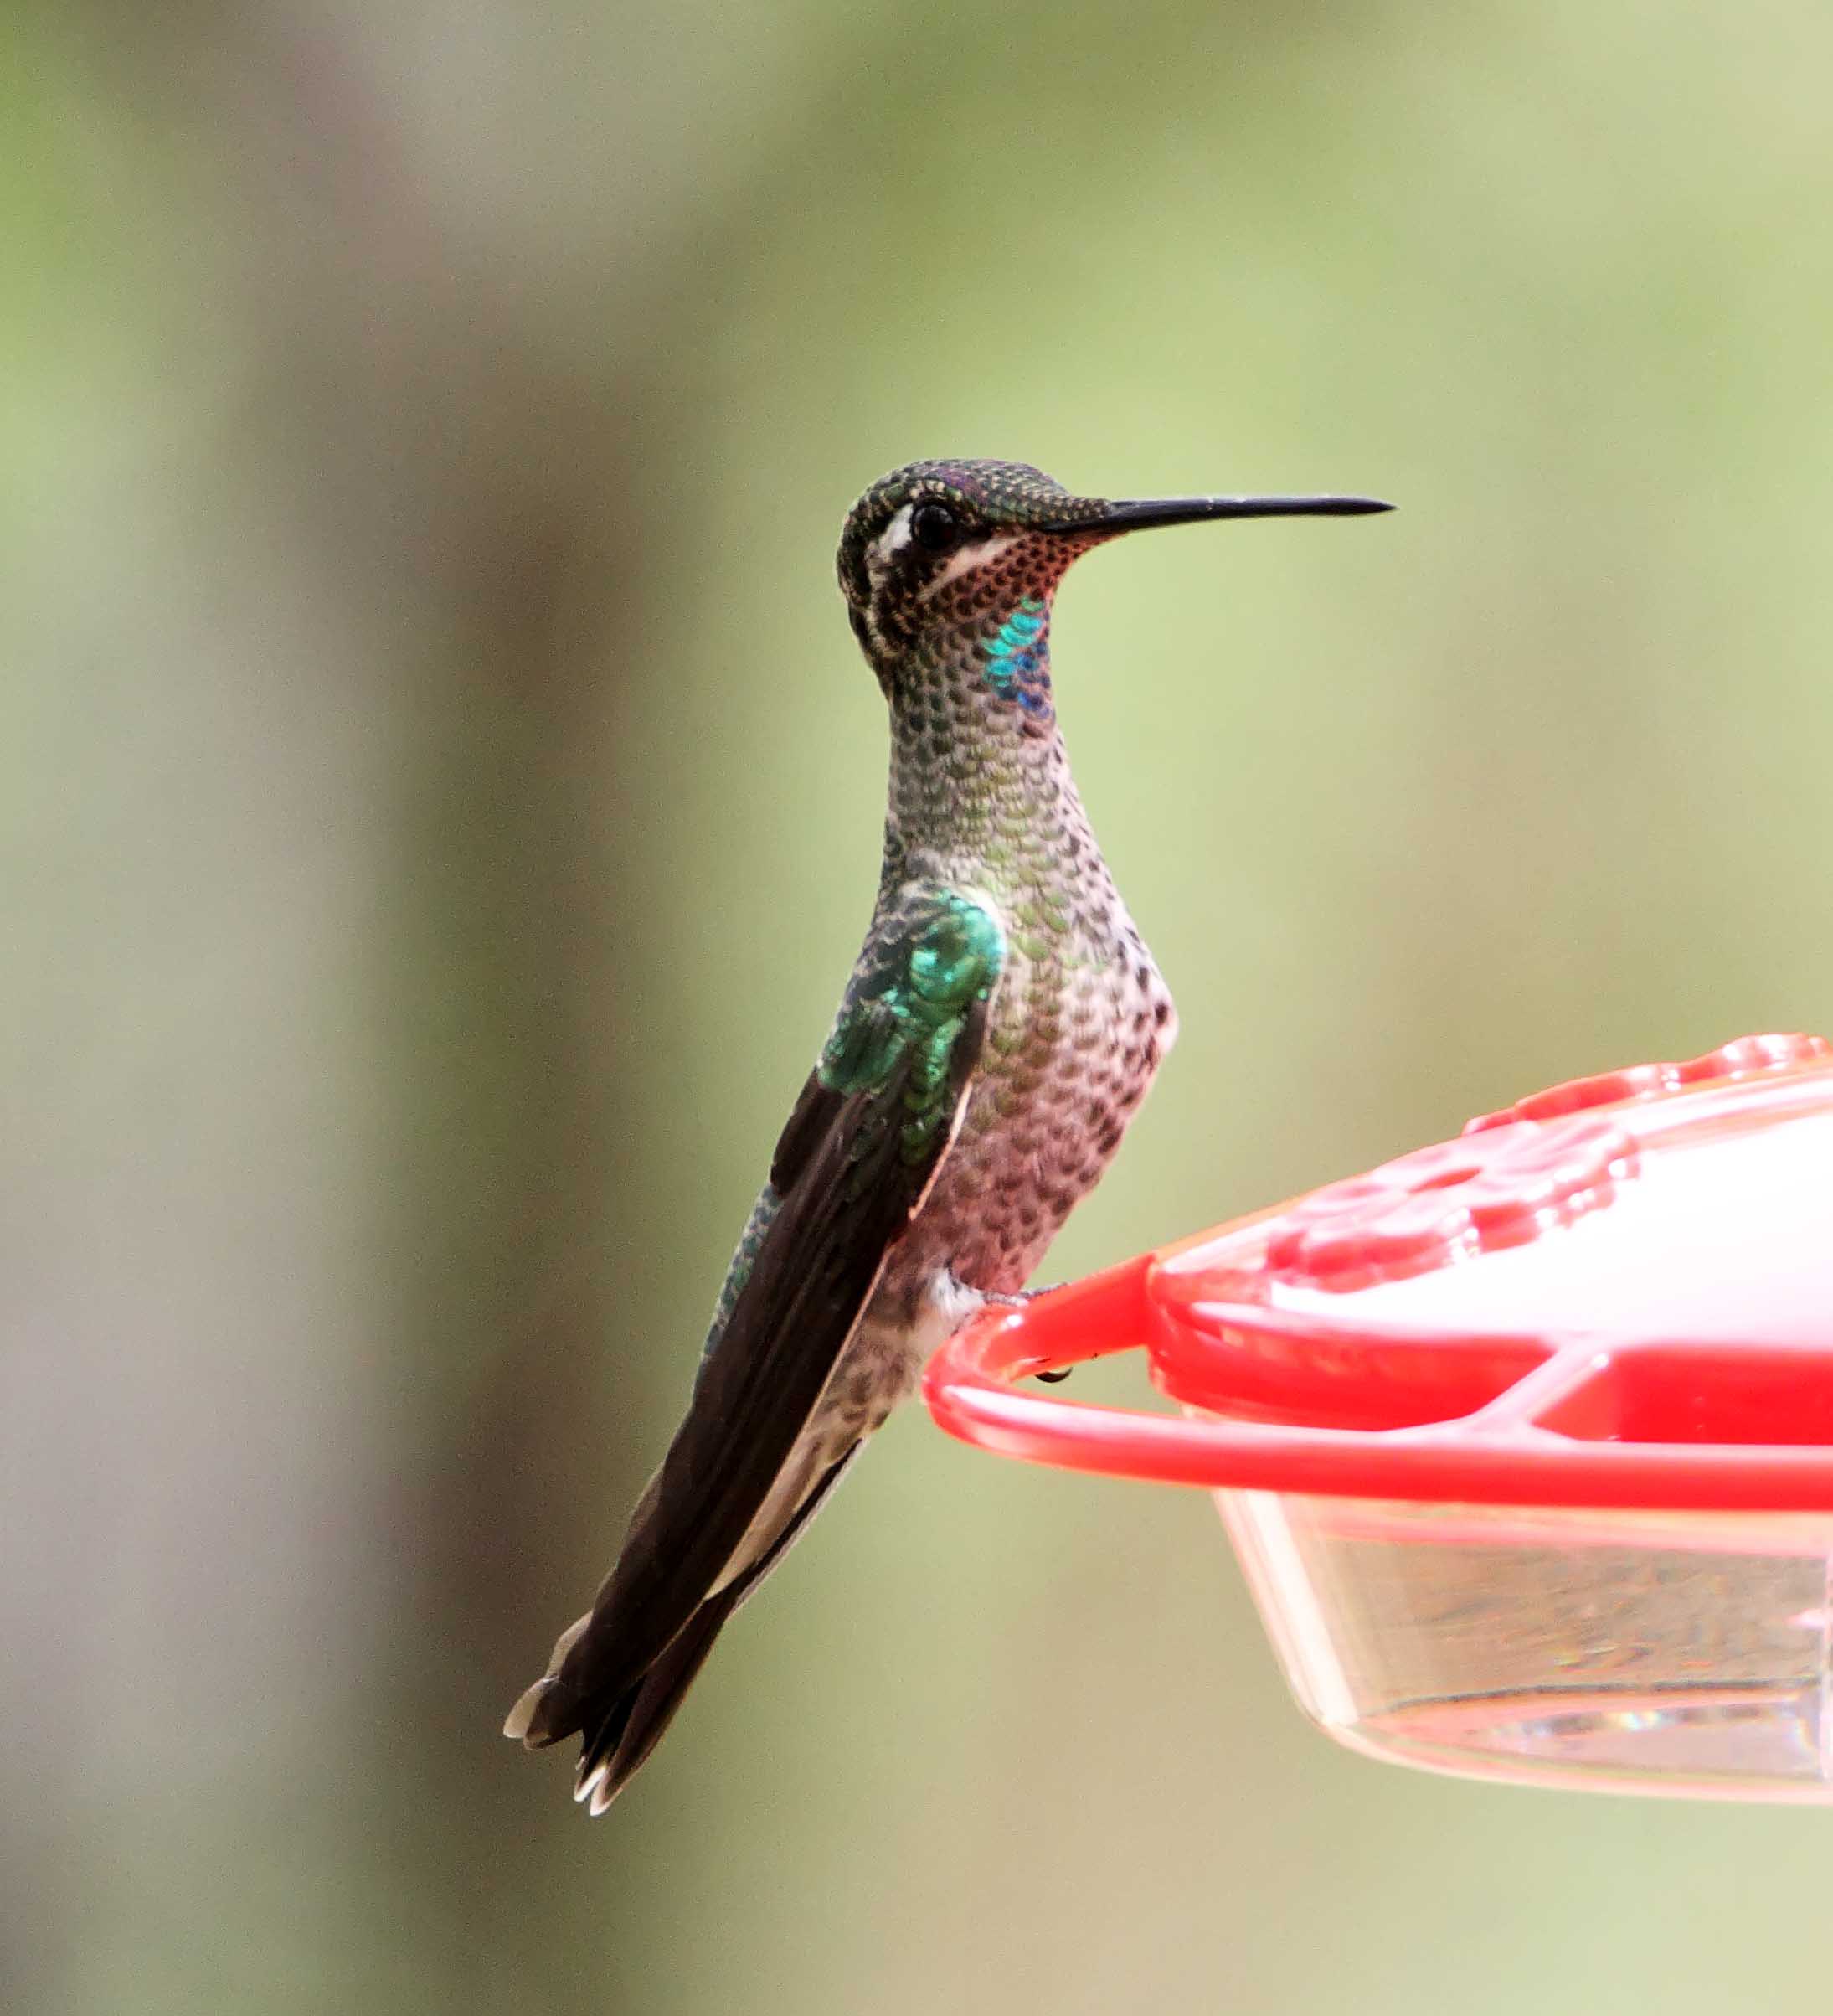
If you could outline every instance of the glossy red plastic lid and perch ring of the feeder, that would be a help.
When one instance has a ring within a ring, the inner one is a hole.
[[[1004,1383],[1131,1343],[1186,1419]],[[1166,1482],[1833,1510],[1833,1046],[1559,1085],[980,1318],[930,1403],[990,1447]]]

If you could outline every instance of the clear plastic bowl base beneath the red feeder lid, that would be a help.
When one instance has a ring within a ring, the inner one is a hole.
[[[1369,1756],[1833,1804],[1833,1518],[1220,1490],[1287,1679]]]

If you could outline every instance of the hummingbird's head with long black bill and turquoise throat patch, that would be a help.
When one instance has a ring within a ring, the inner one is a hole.
[[[1071,560],[1147,526],[1349,516],[1375,498],[1087,498],[1024,462],[911,462],[847,514],[839,577],[879,685],[899,696],[972,657],[1032,734],[1055,722],[1049,613]]]

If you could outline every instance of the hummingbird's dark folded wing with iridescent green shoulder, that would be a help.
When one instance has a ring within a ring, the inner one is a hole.
[[[875,927],[776,1145],[774,1210],[734,1262],[688,1417],[591,1617],[510,1716],[530,1748],[585,1730],[591,1758],[595,1728],[631,1714],[720,1593],[954,1139],[1002,960],[998,919],[958,891],[913,891]]]

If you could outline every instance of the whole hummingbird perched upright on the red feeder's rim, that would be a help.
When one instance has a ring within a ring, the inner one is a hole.
[[[504,1736],[581,1738],[597,1816],[714,1639],[988,1302],[1016,1302],[1178,1032],[1069,774],[1051,611],[1149,526],[1351,516],[1357,496],[1073,496],[913,462],[847,514],[839,581],[891,718],[865,943],[720,1290],[686,1419],[593,1607]]]

